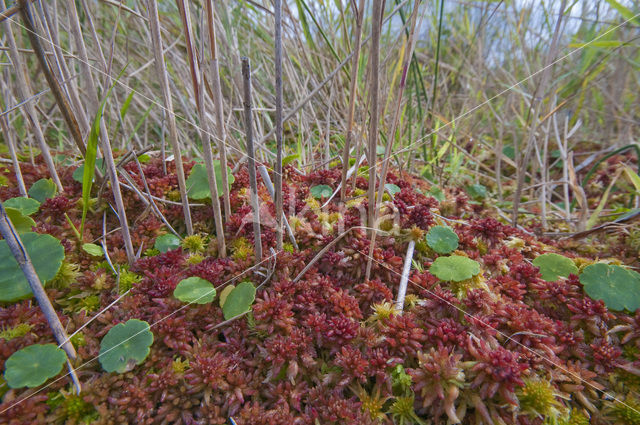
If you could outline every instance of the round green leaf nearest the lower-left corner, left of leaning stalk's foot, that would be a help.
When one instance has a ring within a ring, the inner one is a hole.
[[[59,374],[66,360],[55,344],[29,345],[7,359],[4,379],[11,388],[37,387]]]

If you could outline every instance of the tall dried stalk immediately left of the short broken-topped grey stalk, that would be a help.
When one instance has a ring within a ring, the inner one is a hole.
[[[222,177],[222,200],[224,217],[231,216],[231,202],[229,201],[229,176],[227,175],[227,148],[225,146],[224,108],[222,107],[222,86],[220,84],[220,69],[216,47],[216,30],[213,15],[213,0],[205,1],[207,13],[207,27],[209,30],[209,49],[211,50],[211,78],[213,91],[213,105],[216,114],[216,137],[218,139],[218,153],[220,154],[220,175]]]

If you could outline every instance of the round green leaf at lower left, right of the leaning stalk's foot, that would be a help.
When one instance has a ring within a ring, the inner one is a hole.
[[[100,364],[107,372],[128,372],[147,358],[152,343],[147,322],[131,319],[117,324],[100,342]]]

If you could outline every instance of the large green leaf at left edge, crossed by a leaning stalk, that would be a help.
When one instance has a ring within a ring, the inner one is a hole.
[[[55,277],[64,259],[64,248],[51,235],[27,232],[20,235],[40,282]],[[13,302],[32,296],[22,269],[13,257],[7,241],[0,241],[0,301]]]

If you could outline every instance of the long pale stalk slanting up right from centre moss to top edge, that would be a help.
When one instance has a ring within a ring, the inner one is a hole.
[[[400,109],[402,106],[402,95],[404,94],[404,89],[407,83],[407,73],[409,71],[409,66],[411,65],[411,58],[413,57],[413,49],[416,45],[415,38],[415,29],[416,22],[418,20],[418,9],[420,5],[420,0],[415,0],[413,3],[413,13],[411,15],[411,30],[409,31],[409,36],[407,37],[407,46],[409,47],[408,52],[406,52],[404,56],[404,61],[402,64],[402,78],[400,79],[400,87],[398,87],[398,97],[396,99],[396,109],[393,115],[393,122],[391,124],[391,134],[389,135],[389,139],[387,141],[387,146],[384,149],[384,159],[382,161],[382,170],[380,171],[380,181],[378,182],[378,196],[375,199],[375,208],[373,209],[373,222],[370,224],[373,227],[373,233],[371,234],[371,243],[369,245],[369,257],[367,259],[367,268],[365,272],[366,279],[369,280],[371,277],[371,266],[373,265],[373,250],[376,245],[376,229],[378,227],[378,215],[380,214],[380,205],[382,203],[382,195],[384,194],[384,186],[385,181],[387,180],[387,171],[389,169],[389,162],[391,160],[391,149],[393,148],[393,144],[395,143],[396,131],[398,129],[398,123],[400,122]]]

